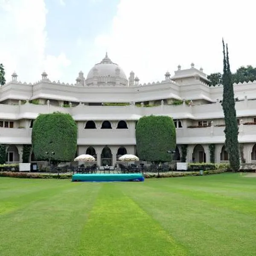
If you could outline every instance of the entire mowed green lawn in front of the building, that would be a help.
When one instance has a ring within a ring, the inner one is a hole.
[[[1,256],[253,256],[256,178],[0,178]]]

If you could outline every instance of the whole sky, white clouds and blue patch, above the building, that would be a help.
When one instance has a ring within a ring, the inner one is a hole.
[[[222,38],[230,66],[256,67],[253,0],[0,0],[0,63],[6,80],[75,83],[108,51],[141,83],[181,69],[222,71]]]

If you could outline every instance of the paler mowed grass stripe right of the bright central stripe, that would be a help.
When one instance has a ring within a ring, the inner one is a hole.
[[[231,182],[233,177],[244,179],[233,174],[230,176]],[[216,184],[219,179],[221,176],[215,175]],[[190,185],[189,189],[186,193],[183,190],[180,192],[179,185],[184,186],[186,182]],[[256,215],[253,212],[256,202],[247,200],[245,195],[240,207],[247,211],[240,211],[236,209],[236,200],[230,200],[226,205],[223,195],[212,198],[214,192],[209,192],[195,196],[198,192],[193,190],[192,182],[197,189],[198,180],[181,178],[165,179],[163,182],[161,179],[146,180],[143,186],[126,183],[122,190],[176,241],[186,246],[190,256],[254,255]],[[221,186],[216,185],[215,192],[219,189]],[[235,194],[238,193],[239,188]],[[241,194],[239,202],[242,198]]]

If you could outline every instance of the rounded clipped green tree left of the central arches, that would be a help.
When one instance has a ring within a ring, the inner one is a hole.
[[[77,147],[77,125],[70,114],[40,114],[33,123],[32,148],[35,158],[55,162],[73,161]],[[52,154],[54,153],[54,154]]]

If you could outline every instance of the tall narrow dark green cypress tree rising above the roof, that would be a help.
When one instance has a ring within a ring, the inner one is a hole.
[[[223,100],[222,108],[225,119],[225,145],[229,154],[230,167],[233,172],[237,172],[240,167],[239,159],[239,143],[238,143],[238,126],[236,120],[236,108],[235,108],[235,97],[234,88],[232,82],[232,73],[230,71],[228,48],[222,39],[223,44]]]

